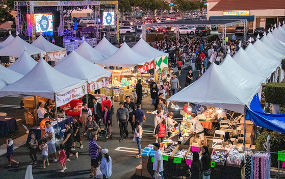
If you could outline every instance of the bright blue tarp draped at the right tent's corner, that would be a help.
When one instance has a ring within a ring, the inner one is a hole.
[[[258,94],[256,94],[249,108],[246,108],[246,120],[269,130],[285,133],[285,114],[267,114],[263,111]]]

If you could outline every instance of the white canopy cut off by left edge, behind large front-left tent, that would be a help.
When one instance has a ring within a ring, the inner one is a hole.
[[[24,75],[0,65],[0,89],[20,80]]]

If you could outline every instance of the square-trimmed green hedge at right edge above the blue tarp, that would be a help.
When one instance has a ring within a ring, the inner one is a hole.
[[[276,105],[285,105],[285,84],[267,83],[264,90],[265,101]]]

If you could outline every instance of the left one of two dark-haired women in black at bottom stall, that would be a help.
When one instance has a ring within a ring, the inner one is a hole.
[[[199,160],[199,154],[197,151],[193,152],[193,160],[189,168],[191,172],[190,179],[203,179],[202,162]]]

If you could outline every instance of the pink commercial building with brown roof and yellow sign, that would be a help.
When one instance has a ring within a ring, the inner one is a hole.
[[[285,20],[284,0],[208,0],[209,20],[247,19],[249,32],[263,27],[266,30],[275,23]],[[234,32],[236,27],[228,27],[227,32]]]

